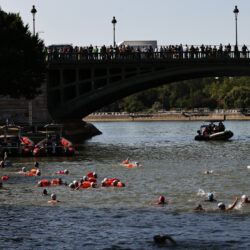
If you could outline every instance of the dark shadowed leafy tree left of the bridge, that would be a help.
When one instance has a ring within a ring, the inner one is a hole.
[[[0,9],[0,94],[33,99],[46,71],[44,44],[19,14]]]

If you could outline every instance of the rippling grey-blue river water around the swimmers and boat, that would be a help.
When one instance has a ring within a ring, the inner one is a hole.
[[[73,158],[39,158],[41,177],[25,177],[33,158],[11,159],[14,167],[0,189],[1,249],[250,249],[250,204],[220,212],[242,194],[250,196],[250,122],[226,122],[228,142],[194,141],[200,122],[94,123],[103,134],[80,147]],[[142,166],[121,165],[127,157]],[[40,179],[70,183],[87,172],[119,178],[124,188],[70,191],[51,186],[57,204],[48,204]],[[212,174],[203,174],[211,170]],[[204,202],[213,192],[218,202]],[[171,204],[150,205],[164,195]],[[192,212],[198,204],[203,213]],[[154,235],[171,235],[177,246],[156,245]]]

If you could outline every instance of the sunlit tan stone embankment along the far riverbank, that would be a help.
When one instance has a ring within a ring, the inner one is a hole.
[[[83,119],[86,122],[112,122],[112,121],[247,121],[250,115],[237,110],[223,110],[220,112],[182,112],[166,111],[159,113],[92,113]]]

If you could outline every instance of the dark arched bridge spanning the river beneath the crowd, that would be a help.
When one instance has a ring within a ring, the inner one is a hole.
[[[48,54],[48,110],[73,119],[133,93],[202,77],[250,76],[249,52],[129,55]]]

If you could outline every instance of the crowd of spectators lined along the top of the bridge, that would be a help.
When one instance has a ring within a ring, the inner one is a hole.
[[[49,46],[45,48],[48,61],[84,61],[84,60],[122,60],[122,59],[200,59],[200,58],[247,58],[248,48],[244,44],[238,46],[222,45],[168,45],[153,48],[149,46]]]

